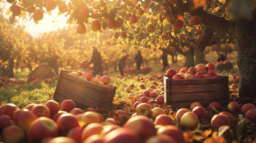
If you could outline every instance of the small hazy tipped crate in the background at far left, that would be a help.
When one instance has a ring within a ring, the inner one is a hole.
[[[42,64],[41,66],[38,66],[36,67],[36,69],[31,71],[31,73],[29,73],[29,75],[27,76],[28,77],[35,76],[38,79],[48,79],[48,78],[54,77],[55,73],[51,71],[48,66]]]

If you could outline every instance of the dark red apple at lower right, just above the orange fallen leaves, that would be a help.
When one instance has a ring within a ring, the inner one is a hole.
[[[211,126],[218,130],[223,125],[230,126],[229,116],[226,114],[215,114],[211,119]]]

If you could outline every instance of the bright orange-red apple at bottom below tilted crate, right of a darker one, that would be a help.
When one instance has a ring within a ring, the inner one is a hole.
[[[103,125],[101,123],[91,123],[82,130],[81,141],[84,142],[89,136],[100,134],[103,130]]]

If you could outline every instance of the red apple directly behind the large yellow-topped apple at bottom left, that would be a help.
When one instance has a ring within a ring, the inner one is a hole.
[[[36,117],[50,117],[49,108],[43,104],[34,105],[31,111]]]

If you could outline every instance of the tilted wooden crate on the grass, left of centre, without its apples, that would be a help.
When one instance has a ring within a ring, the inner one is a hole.
[[[68,74],[70,72],[72,70],[61,70],[54,92],[55,100],[73,100],[78,108],[103,107],[112,104],[116,86],[113,90],[107,91],[107,88]]]

